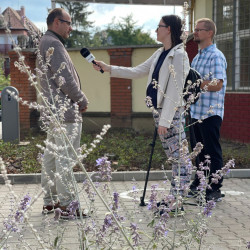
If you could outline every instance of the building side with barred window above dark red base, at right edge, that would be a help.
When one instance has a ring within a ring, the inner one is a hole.
[[[223,137],[250,142],[250,1],[214,0],[216,44],[225,54],[228,86]]]

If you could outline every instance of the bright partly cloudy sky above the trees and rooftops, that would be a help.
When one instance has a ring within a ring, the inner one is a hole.
[[[47,29],[46,17],[51,8],[50,0],[0,0],[1,12],[7,7],[19,10],[25,7],[25,15],[42,31]],[[56,7],[60,7],[59,4]],[[161,16],[177,14],[182,17],[182,6],[156,6],[156,5],[130,5],[130,4],[97,4],[89,3],[88,11],[93,11],[88,20],[94,21],[94,26],[105,28],[112,22],[112,18],[121,21],[121,17],[133,15],[138,27],[149,32],[152,38],[156,38],[155,29]]]

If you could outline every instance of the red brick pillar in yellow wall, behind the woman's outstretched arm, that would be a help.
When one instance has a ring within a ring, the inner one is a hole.
[[[131,67],[132,48],[108,49],[110,64]],[[132,80],[110,78],[111,126],[131,127],[132,123]]]

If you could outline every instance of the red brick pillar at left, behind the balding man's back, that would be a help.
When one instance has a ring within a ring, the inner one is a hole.
[[[25,57],[25,62],[29,65],[32,72],[36,67],[36,55],[33,50],[23,51],[22,54]],[[25,73],[21,73],[18,68],[14,66],[14,62],[18,61],[18,56],[15,51],[9,52],[10,57],[10,78],[11,85],[18,89],[19,96],[28,102],[36,101],[36,91],[35,88],[30,86],[28,81],[28,76]],[[29,131],[34,123],[34,111],[30,110],[27,106],[19,105],[20,111],[20,137],[21,139]]]

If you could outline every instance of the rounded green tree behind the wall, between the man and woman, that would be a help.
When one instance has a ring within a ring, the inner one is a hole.
[[[143,32],[142,27],[136,27],[132,14],[122,18],[122,21],[118,23],[115,23],[115,18],[113,18],[106,32],[108,40],[111,38],[112,45],[156,44],[148,32]]]

